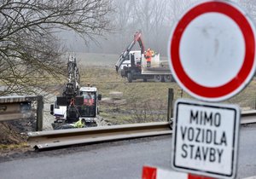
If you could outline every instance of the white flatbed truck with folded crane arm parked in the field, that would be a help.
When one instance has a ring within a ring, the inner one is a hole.
[[[139,44],[140,50],[131,50],[136,43]],[[144,82],[148,79],[154,79],[156,82],[173,82],[168,61],[160,61],[160,54],[155,54],[151,58],[151,66],[148,67],[144,51],[142,32],[139,31],[119,56],[119,61],[115,64],[116,72],[127,78],[129,83],[136,79],[143,79]]]

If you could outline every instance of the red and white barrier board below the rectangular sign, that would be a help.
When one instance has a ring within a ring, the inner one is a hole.
[[[163,170],[151,166],[143,166],[142,179],[213,179],[207,176],[195,176],[172,170]]]

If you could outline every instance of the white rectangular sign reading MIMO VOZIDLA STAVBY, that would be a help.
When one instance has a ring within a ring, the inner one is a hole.
[[[174,108],[172,168],[234,178],[240,109],[236,105],[180,99]]]

